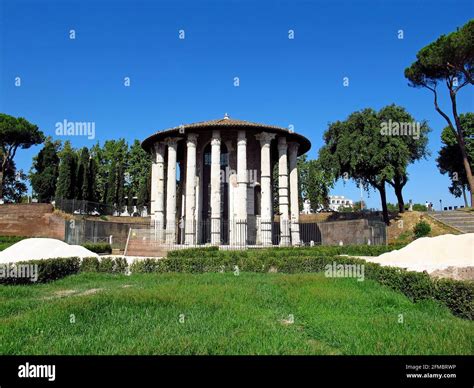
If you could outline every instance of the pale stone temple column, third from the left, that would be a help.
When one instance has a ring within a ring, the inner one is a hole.
[[[196,145],[198,135],[188,134],[186,142],[185,244],[196,244]]]

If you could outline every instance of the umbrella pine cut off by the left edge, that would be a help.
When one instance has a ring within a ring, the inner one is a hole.
[[[18,148],[41,144],[44,135],[38,127],[22,117],[0,113],[0,199],[3,198],[4,176],[11,168]]]

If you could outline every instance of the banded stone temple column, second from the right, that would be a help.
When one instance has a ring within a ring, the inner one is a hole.
[[[288,145],[286,137],[278,138],[278,204],[280,210],[280,245],[290,245],[288,209]]]

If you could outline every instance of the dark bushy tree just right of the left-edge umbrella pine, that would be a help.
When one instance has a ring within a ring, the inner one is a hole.
[[[33,158],[29,178],[39,202],[51,202],[56,192],[59,175],[59,149],[61,142],[47,137],[44,147]]]

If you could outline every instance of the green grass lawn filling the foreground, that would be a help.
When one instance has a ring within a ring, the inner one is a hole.
[[[370,280],[82,273],[0,286],[0,354],[473,353],[473,322]]]

